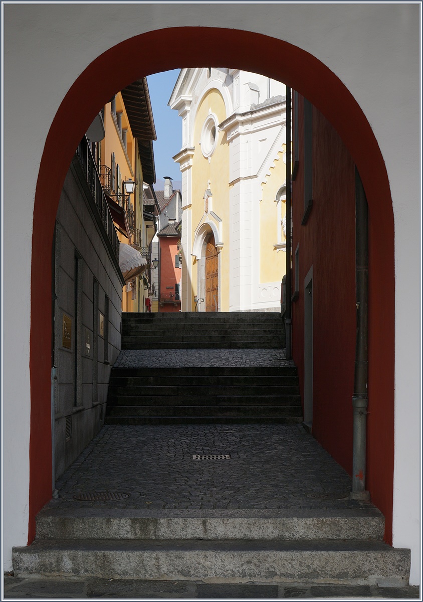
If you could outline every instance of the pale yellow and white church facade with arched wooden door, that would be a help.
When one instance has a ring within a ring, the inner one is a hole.
[[[285,85],[182,69],[182,311],[278,311],[285,275]]]

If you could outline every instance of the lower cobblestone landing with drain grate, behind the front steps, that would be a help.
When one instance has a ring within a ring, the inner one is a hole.
[[[230,455],[193,460],[191,455]],[[104,426],[57,482],[48,507],[347,509],[350,477],[302,426]],[[125,492],[78,501],[83,492]]]

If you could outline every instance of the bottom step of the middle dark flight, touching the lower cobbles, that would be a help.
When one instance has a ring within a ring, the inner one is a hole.
[[[163,426],[163,425],[190,425],[190,424],[300,424],[303,417],[279,416],[106,416],[105,424],[119,426]]]

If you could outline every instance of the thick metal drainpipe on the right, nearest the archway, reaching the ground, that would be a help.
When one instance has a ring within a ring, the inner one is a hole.
[[[369,500],[366,491],[366,420],[368,374],[368,206],[356,167],[356,364],[353,394],[353,500]]]

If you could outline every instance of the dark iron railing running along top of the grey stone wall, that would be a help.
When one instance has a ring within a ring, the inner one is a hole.
[[[119,262],[119,238],[117,238],[116,230],[113,224],[113,218],[110,214],[110,209],[107,204],[106,197],[103,193],[102,182],[100,181],[99,173],[97,172],[94,163],[93,155],[91,155],[88,140],[84,136],[76,149],[76,157],[82,167],[82,172],[87,179],[88,188],[93,196],[94,204],[99,213],[103,227],[107,232],[107,237],[113,248],[114,255]]]

